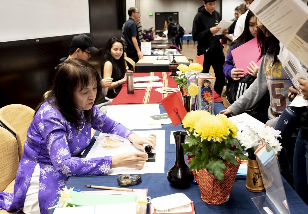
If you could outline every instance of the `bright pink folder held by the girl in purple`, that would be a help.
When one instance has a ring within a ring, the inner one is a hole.
[[[261,64],[262,58],[258,60],[260,56],[260,49],[257,43],[257,37],[233,49],[231,53],[235,68],[244,69],[244,75],[248,74],[247,66],[250,67],[249,63],[251,61],[254,61],[258,66]]]

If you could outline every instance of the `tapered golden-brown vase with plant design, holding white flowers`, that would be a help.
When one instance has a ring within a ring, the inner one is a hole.
[[[264,190],[258,162],[250,158],[247,160],[246,188],[252,192],[261,192]]]

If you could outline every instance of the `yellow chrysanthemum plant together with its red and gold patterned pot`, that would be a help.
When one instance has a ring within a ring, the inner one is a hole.
[[[229,199],[241,160],[247,160],[235,138],[237,126],[223,114],[191,111],[182,120],[189,132],[182,143],[190,170],[199,184],[201,199],[222,204]]]

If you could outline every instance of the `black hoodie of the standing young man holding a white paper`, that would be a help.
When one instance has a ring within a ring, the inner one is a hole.
[[[198,55],[206,52],[221,52],[223,45],[219,39],[223,35],[215,35],[210,31],[221,21],[221,15],[215,10],[212,14],[205,10],[204,6],[198,8],[198,13],[193,20],[193,40],[198,41]]]

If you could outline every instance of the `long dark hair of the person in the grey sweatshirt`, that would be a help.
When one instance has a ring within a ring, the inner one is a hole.
[[[275,64],[278,61],[277,55],[279,54],[280,47],[279,47],[279,40],[269,31],[266,27],[265,32],[258,30],[257,39],[258,39],[258,46],[260,48],[260,56],[258,60],[262,58],[265,54],[274,55],[274,62]],[[270,36],[265,36],[266,34]]]

